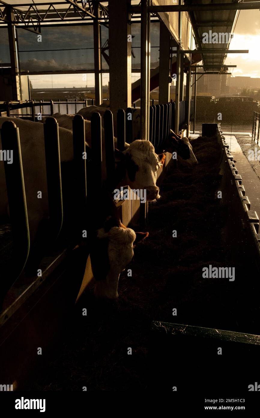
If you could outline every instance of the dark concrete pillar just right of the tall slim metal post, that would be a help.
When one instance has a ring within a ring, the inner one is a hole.
[[[170,99],[170,33],[163,22],[160,22],[159,50],[159,104],[168,103]]]

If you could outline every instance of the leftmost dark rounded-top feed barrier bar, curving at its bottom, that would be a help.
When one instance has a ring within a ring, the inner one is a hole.
[[[13,121],[8,120],[3,123],[0,132],[2,149],[13,151],[13,162],[10,164],[8,161],[4,160],[8,205],[14,244],[13,263],[12,265],[7,266],[6,272],[1,272],[2,281],[7,280],[8,277],[10,278],[9,283],[3,283],[3,287],[5,288],[5,291],[7,291],[25,266],[30,249],[30,234],[19,129]]]

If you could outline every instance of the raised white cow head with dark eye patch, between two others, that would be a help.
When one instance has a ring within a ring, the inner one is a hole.
[[[164,163],[165,155],[157,155],[149,141],[139,139],[133,141],[125,151],[117,151],[116,158],[118,157],[120,177],[124,178],[121,185],[146,190],[147,201],[159,199],[157,171]]]

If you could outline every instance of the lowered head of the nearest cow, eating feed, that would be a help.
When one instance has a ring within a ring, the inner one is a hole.
[[[104,227],[97,231],[90,254],[96,298],[119,297],[119,276],[133,259],[135,245],[148,235],[149,232],[126,228],[119,219],[107,218]]]

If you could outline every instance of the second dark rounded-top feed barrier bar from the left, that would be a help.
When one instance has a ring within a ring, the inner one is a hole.
[[[43,124],[50,230],[53,239],[61,231],[63,205],[61,189],[61,159],[58,123],[54,117],[47,117]]]

